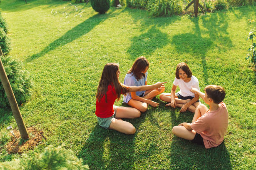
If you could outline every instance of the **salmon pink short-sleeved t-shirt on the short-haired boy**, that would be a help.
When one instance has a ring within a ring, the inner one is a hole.
[[[225,103],[220,102],[217,110],[208,110],[191,123],[191,128],[202,136],[205,148],[220,145],[228,128],[228,110]]]

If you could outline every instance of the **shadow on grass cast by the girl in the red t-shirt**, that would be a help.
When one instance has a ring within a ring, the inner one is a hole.
[[[131,122],[138,130],[145,117],[146,115],[142,114],[138,119],[123,120]],[[95,125],[78,157],[83,158],[84,164],[89,165],[92,170],[130,170],[137,159],[134,154],[137,133],[125,135],[115,130],[105,130],[99,125]]]

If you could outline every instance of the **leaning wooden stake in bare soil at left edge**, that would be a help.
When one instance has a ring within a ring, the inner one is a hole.
[[[2,48],[0,47],[0,56],[1,55],[3,56],[3,52],[2,52]],[[10,86],[10,82],[8,80],[8,77],[7,77],[6,73],[5,73],[5,69],[3,67],[3,63],[2,63],[1,58],[0,58],[0,80],[3,84],[5,93],[7,95],[8,101],[10,103],[10,107],[13,111],[13,116],[15,118],[15,121],[16,121],[17,125],[18,125],[18,129],[20,131],[20,136],[21,136],[22,139],[26,140],[26,139],[29,138],[28,132],[27,132],[25,123],[22,119],[22,115],[20,114],[20,109],[18,107],[17,101],[16,101],[15,96],[13,94],[13,89]]]

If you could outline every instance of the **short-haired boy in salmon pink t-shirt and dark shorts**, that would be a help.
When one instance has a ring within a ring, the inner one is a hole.
[[[222,100],[225,89],[217,85],[205,87],[205,93],[191,87],[191,92],[197,93],[210,106],[210,109],[200,104],[197,106],[192,123],[181,123],[172,128],[172,133],[191,140],[194,143],[212,148],[220,145],[228,128],[228,110]]]

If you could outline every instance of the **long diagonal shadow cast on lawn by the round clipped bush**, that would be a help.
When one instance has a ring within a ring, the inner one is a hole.
[[[54,42],[51,42],[41,52],[38,52],[37,54],[33,54],[32,56],[28,57],[26,61],[31,62],[32,60],[34,60],[38,57],[41,57],[41,56],[45,55],[46,53],[48,53],[52,50],[55,50],[57,47],[66,45],[69,42],[72,42],[72,41],[76,40],[77,38],[79,38],[79,37],[87,34],[88,32],[90,32],[90,30],[95,28],[95,26],[97,26],[98,24],[100,24],[104,20],[108,19],[110,16],[114,17],[115,15],[117,15],[117,14],[115,13],[115,14],[111,15],[111,12],[110,12],[110,13],[104,14],[104,15],[96,14],[96,15],[88,18],[84,22],[80,23],[79,25],[75,26],[71,30],[67,31],[59,39],[55,40]]]

